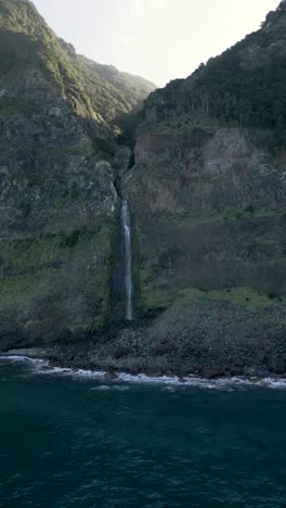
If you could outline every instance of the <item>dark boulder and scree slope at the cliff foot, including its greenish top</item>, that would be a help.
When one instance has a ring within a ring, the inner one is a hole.
[[[205,379],[286,374],[284,305],[259,312],[227,302],[180,303],[153,319],[113,323],[101,332],[43,343],[10,338],[2,353],[44,358],[61,368],[133,376]],[[3,341],[2,341],[3,344]]]

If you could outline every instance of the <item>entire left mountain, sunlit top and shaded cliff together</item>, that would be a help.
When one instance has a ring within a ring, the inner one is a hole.
[[[79,338],[109,316],[119,204],[113,132],[117,116],[152,87],[146,81],[144,91],[143,79],[128,79],[88,65],[31,2],[1,0],[3,347]]]

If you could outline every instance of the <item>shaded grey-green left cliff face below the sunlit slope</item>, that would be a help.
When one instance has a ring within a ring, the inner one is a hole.
[[[118,198],[109,163],[37,71],[10,97],[32,112],[0,115],[0,333],[56,340],[108,314]]]

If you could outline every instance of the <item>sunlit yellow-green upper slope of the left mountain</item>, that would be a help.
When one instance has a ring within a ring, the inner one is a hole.
[[[75,114],[113,128],[120,114],[129,112],[155,86],[136,77],[78,56],[70,45],[58,39],[29,1],[0,2],[0,78],[34,66],[41,71]],[[101,69],[101,72],[99,72]],[[105,77],[106,76],[106,77]]]

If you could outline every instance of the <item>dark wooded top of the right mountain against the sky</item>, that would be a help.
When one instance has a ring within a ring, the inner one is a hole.
[[[261,29],[210,59],[187,79],[171,81],[146,101],[145,126],[237,126],[272,131],[285,144],[286,2]],[[168,125],[169,124],[169,125]]]

